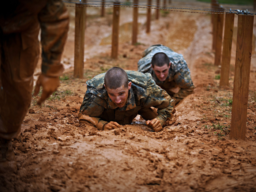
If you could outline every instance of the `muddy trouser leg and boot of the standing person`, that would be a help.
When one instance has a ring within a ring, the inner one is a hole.
[[[0,161],[12,161],[11,139],[20,131],[39,57],[39,23],[21,33],[0,34]]]

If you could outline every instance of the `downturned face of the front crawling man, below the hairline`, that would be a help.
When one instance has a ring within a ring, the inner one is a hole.
[[[105,86],[105,84],[104,84],[104,86]],[[129,82],[127,88],[124,86],[118,87],[117,89],[108,89],[106,86],[105,86],[105,88],[108,92],[110,99],[119,108],[122,108],[127,101],[127,98],[129,96],[129,90],[131,89],[131,86],[132,86],[132,82]]]

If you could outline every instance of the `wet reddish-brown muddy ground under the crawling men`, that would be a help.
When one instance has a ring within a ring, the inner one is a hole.
[[[112,9],[101,18],[99,9],[87,8],[81,80],[72,74],[74,8],[69,11],[61,86],[42,106],[36,105],[38,96],[32,99],[21,133],[13,140],[17,165],[1,170],[0,191],[256,191],[255,40],[246,140],[230,140],[236,46],[234,42],[230,86],[219,89],[210,14],[162,11],[146,34],[146,10],[140,10],[139,43],[131,45],[132,9],[121,8],[119,57],[114,60],[109,44]],[[237,16],[235,34],[236,23]],[[86,80],[113,66],[137,70],[141,53],[152,44],[182,53],[191,69],[195,93],[176,106],[175,122],[167,122],[158,133],[139,116],[132,125],[110,131],[79,124]]]

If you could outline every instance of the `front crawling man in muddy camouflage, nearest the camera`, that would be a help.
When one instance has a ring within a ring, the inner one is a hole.
[[[99,130],[130,124],[139,114],[158,132],[175,113],[174,100],[155,84],[148,73],[113,67],[86,84],[79,122]]]

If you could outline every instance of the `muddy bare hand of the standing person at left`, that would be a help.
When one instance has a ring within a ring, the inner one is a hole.
[[[41,86],[43,87],[43,93],[41,98],[37,101],[38,105],[41,105],[45,99],[50,97],[50,95],[57,90],[57,88],[60,86],[59,77],[48,77],[44,74],[40,74],[37,84],[35,85],[34,96],[38,94]]]

